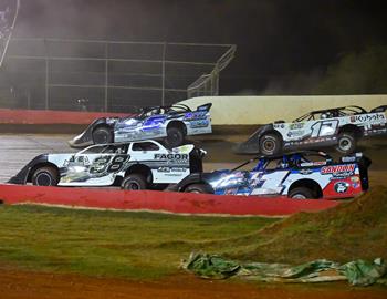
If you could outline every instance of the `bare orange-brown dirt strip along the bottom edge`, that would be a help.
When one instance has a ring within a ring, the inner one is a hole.
[[[1,269],[1,268],[0,268]],[[76,275],[38,274],[1,269],[0,298],[265,298],[265,299],[385,299],[386,288],[352,288],[333,285],[264,285],[201,280],[180,276],[136,282],[124,279],[88,278]]]

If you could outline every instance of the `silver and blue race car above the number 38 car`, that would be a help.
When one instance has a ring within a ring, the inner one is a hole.
[[[80,135],[69,142],[71,147],[91,144],[132,142],[165,138],[171,148],[184,143],[186,136],[212,132],[211,103],[191,111],[187,105],[155,106],[143,109],[129,117],[102,117],[95,120]]]

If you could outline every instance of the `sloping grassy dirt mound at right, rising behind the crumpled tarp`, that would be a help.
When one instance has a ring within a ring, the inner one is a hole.
[[[387,259],[386,231],[387,187],[376,186],[335,208],[317,214],[301,213],[263,228],[255,235],[257,246],[245,243],[245,249],[232,257],[290,264],[317,258],[342,262]],[[252,237],[248,239],[251,241]]]

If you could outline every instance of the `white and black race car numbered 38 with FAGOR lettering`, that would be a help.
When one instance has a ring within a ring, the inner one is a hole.
[[[39,186],[119,186],[147,189],[176,184],[202,171],[205,151],[187,144],[167,150],[156,141],[93,145],[77,153],[43,154],[9,183]]]

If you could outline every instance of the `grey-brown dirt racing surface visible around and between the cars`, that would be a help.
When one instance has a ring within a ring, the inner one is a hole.
[[[28,162],[44,153],[72,153],[67,141],[74,135],[67,134],[0,134],[0,183],[15,175]],[[231,146],[247,136],[202,136],[196,144],[205,148],[205,169],[228,168],[249,159],[251,156],[234,155]],[[366,140],[359,150],[373,159],[370,171],[387,171],[387,137]],[[333,153],[335,155],[335,153]]]

